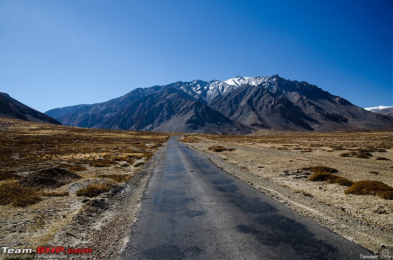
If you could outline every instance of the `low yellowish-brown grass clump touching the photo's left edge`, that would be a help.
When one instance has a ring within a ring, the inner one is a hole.
[[[23,187],[15,180],[0,183],[0,205],[25,207],[41,200],[36,188]]]

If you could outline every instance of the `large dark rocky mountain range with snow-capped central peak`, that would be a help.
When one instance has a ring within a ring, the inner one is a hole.
[[[178,81],[45,114],[66,126],[118,130],[247,134],[262,129],[393,129],[390,116],[367,111],[305,81],[278,75]]]

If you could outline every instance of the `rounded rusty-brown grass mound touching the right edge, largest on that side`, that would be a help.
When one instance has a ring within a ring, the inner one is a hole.
[[[393,199],[393,188],[383,182],[360,181],[355,182],[352,186],[346,189],[345,194],[374,195],[391,200]]]

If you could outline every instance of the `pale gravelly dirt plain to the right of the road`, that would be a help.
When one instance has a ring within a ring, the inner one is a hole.
[[[393,186],[393,132],[187,135],[183,141],[255,189],[375,253],[381,245],[393,245],[393,200],[346,195],[348,187],[310,182],[312,173],[301,170],[328,166],[353,182]],[[372,156],[340,156],[358,151]]]

